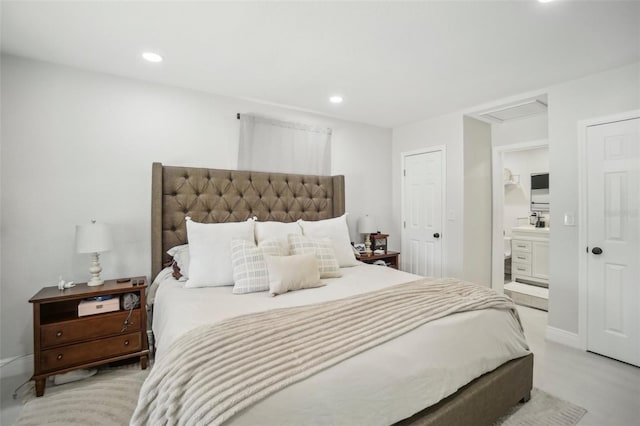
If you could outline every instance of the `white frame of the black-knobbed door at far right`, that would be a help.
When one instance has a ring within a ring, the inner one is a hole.
[[[640,109],[578,121],[578,345],[588,350],[588,243],[587,129],[592,126],[640,118]]]

